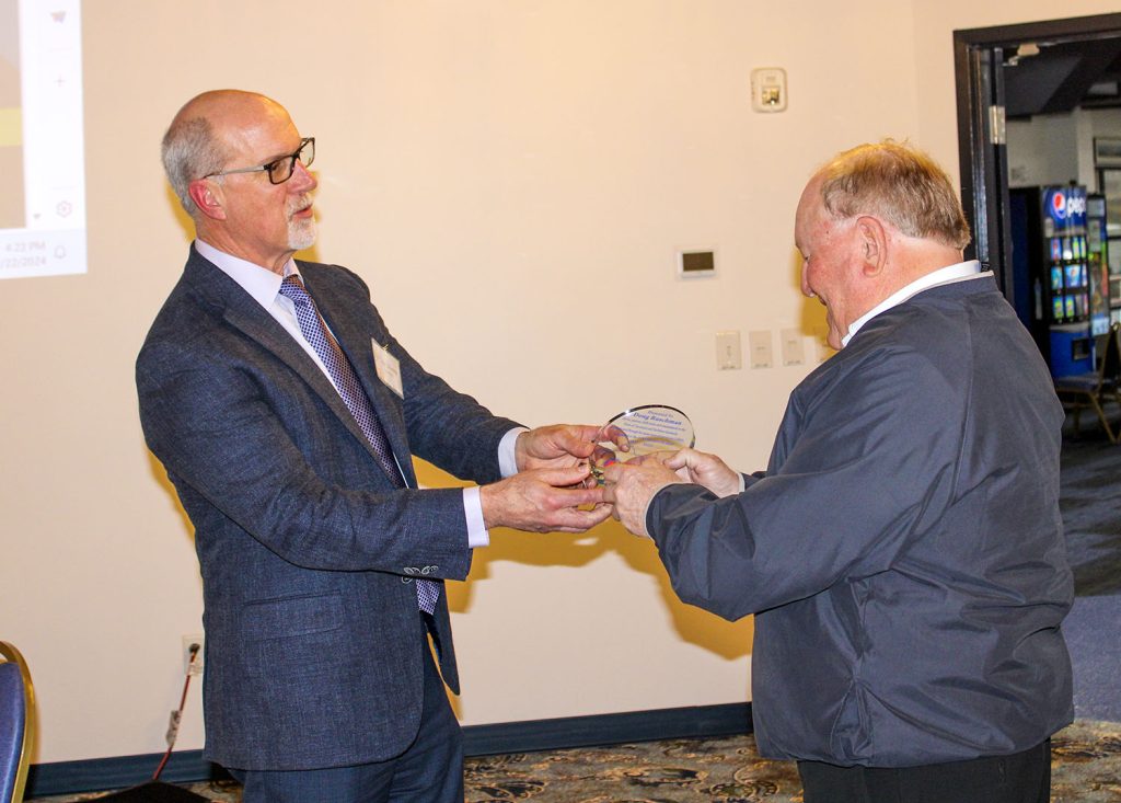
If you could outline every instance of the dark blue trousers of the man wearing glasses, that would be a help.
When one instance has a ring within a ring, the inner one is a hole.
[[[463,732],[427,638],[424,665],[420,730],[405,753],[331,769],[231,769],[245,787],[243,803],[463,803]]]

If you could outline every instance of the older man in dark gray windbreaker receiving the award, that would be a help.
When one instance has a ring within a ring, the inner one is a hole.
[[[840,352],[767,471],[686,450],[611,467],[609,498],[683,600],[757,615],[759,747],[806,803],[1045,803],[1073,718],[1047,369],[925,155],[839,155],[795,236]]]

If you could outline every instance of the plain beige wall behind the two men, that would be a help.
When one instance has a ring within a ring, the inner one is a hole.
[[[530,424],[636,403],[766,461],[812,364],[717,371],[714,334],[798,327],[797,195],[835,150],[910,137],[956,175],[951,30],[1041,0],[87,0],[90,271],[0,285],[0,637],[39,693],[39,762],[157,753],[200,629],[189,525],[143,446],[132,361],[188,233],[158,166],[215,86],[318,138],[316,255],[358,270],[430,369]],[[311,10],[309,10],[311,9]],[[1068,13],[1109,10],[1072,2]],[[750,110],[781,66],[789,110]],[[714,279],[675,278],[714,247]],[[426,469],[429,483],[447,481]],[[674,601],[652,548],[499,532],[450,591],[465,723],[742,701],[750,620]],[[197,690],[182,749],[202,744]]]

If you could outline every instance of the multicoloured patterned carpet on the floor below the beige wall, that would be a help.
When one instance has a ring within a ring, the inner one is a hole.
[[[1053,748],[1053,803],[1121,803],[1121,724],[1075,722],[1056,735]],[[794,763],[759,758],[751,736],[487,756],[469,759],[465,775],[466,803],[802,801]],[[204,800],[241,801],[232,781],[186,788]],[[91,801],[103,794],[37,800]]]

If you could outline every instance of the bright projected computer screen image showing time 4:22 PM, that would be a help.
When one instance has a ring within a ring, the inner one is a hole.
[[[85,273],[80,0],[0,0],[0,278]]]

